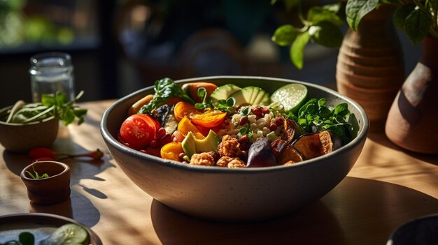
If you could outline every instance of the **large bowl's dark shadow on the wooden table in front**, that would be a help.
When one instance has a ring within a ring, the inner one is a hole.
[[[162,244],[386,244],[402,223],[435,212],[438,200],[429,195],[353,177],[301,211],[264,222],[211,222],[180,214],[157,200],[151,206]]]

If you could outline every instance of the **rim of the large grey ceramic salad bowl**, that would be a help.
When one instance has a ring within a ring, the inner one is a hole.
[[[145,87],[143,89],[139,89],[137,91],[132,92],[131,94],[128,94],[127,96],[123,96],[122,98],[118,99],[108,107],[101,118],[100,123],[100,131],[101,135],[104,138],[104,140],[107,142],[107,144],[111,144],[112,147],[115,147],[115,149],[118,149],[118,151],[122,151],[125,154],[132,155],[136,158],[142,158],[145,160],[148,160],[150,163],[154,164],[160,164],[160,165],[167,165],[169,168],[179,168],[181,170],[187,170],[187,171],[194,171],[194,172],[208,172],[208,173],[230,173],[230,174],[236,174],[236,173],[260,173],[260,172],[275,172],[275,171],[282,171],[288,168],[302,168],[307,165],[317,164],[319,162],[325,161],[326,158],[334,158],[337,156],[337,154],[344,154],[346,151],[349,151],[353,149],[356,145],[360,144],[360,142],[365,141],[367,138],[367,133],[369,130],[369,119],[367,117],[367,114],[363,108],[353,101],[351,98],[348,98],[347,96],[344,96],[342,94],[339,94],[337,91],[333,91],[332,89],[329,89],[327,87],[323,87],[318,84],[312,84],[309,82],[302,82],[297,80],[289,80],[284,78],[276,78],[276,77],[262,77],[262,76],[234,76],[234,75],[218,75],[218,76],[208,76],[208,77],[195,77],[195,78],[188,78],[183,80],[175,80],[175,82],[178,83],[185,83],[185,82],[197,82],[199,80],[218,80],[218,79],[241,79],[241,80],[250,80],[250,79],[265,79],[270,81],[276,81],[276,82],[295,82],[304,84],[308,87],[314,87],[316,89],[323,90],[329,94],[332,94],[338,98],[343,99],[344,101],[348,101],[348,103],[351,103],[351,105],[354,105],[356,109],[360,112],[360,120],[363,122],[363,127],[360,128],[358,131],[358,135],[356,138],[351,140],[351,142],[348,142],[348,144],[344,145],[343,147],[337,149],[332,154],[327,154],[323,156],[318,156],[316,158],[312,158],[306,161],[302,161],[299,163],[294,163],[292,165],[277,165],[277,166],[271,166],[271,167],[261,167],[261,168],[216,168],[216,167],[209,167],[209,166],[199,166],[199,165],[189,165],[189,164],[182,164],[177,161],[171,161],[167,159],[163,159],[157,156],[153,156],[150,154],[142,153],[141,151],[137,151],[135,149],[131,149],[129,147],[126,147],[124,144],[118,142],[111,133],[108,131],[108,128],[106,128],[108,114],[113,110],[114,107],[117,107],[121,103],[124,103],[125,101],[129,100],[129,98],[132,98],[132,96],[136,96],[138,94],[143,93],[143,91],[146,91],[148,89],[153,89],[153,86]],[[359,119],[359,118],[358,118]]]

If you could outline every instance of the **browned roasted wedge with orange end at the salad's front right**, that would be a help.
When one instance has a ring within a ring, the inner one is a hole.
[[[302,135],[292,143],[292,147],[302,154],[304,159],[316,158],[332,152],[332,138],[328,131]]]

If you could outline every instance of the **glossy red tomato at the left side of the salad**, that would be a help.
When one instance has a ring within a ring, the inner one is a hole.
[[[160,123],[146,114],[133,114],[120,126],[120,138],[129,147],[141,149],[155,140]]]

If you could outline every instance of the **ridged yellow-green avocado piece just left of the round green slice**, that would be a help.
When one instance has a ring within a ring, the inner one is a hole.
[[[231,95],[236,99],[236,105],[267,105],[269,104],[269,94],[260,87],[244,87]]]

